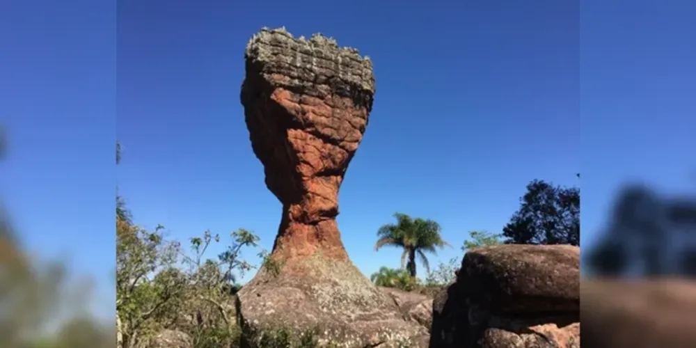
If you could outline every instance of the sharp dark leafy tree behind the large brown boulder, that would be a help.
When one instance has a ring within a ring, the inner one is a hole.
[[[580,245],[580,189],[532,180],[503,228],[509,244]]]

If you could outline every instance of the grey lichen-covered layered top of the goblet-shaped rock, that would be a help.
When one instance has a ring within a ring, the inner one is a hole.
[[[287,77],[272,79],[285,87],[311,90],[331,80],[333,93],[339,95],[349,96],[356,88],[374,94],[370,58],[318,33],[306,39],[294,38],[284,28],[261,29],[246,45],[245,58],[247,63],[260,63],[264,74]]]

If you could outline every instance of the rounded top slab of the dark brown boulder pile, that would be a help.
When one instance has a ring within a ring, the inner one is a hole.
[[[499,245],[475,248],[462,261],[473,300],[494,311],[577,310],[580,248]],[[461,271],[460,271],[461,273]]]

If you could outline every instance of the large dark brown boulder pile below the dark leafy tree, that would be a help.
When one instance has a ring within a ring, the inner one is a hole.
[[[580,248],[468,251],[434,299],[430,347],[580,347]]]

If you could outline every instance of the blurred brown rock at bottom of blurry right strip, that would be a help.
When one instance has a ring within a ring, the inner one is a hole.
[[[693,280],[583,279],[588,347],[696,347]]]

